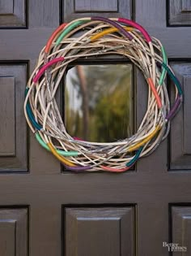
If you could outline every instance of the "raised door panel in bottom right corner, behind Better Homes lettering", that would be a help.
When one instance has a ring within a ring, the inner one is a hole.
[[[186,251],[173,252],[172,255],[191,255],[191,207],[172,206],[171,242],[186,247]]]

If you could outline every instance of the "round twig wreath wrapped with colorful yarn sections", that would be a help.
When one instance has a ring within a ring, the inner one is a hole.
[[[70,63],[104,54],[120,54],[142,71],[148,85],[147,110],[132,137],[109,143],[78,140],[66,131],[55,94]],[[167,73],[175,85],[172,107]],[[132,20],[91,17],[62,24],[49,38],[28,80],[24,113],[37,141],[66,169],[123,172],[168,136],[170,121],[182,101],[180,82],[157,38]]]

